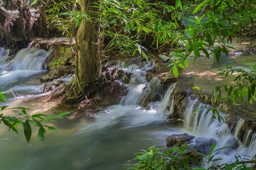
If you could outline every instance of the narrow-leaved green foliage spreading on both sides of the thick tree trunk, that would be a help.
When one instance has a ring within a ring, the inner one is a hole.
[[[32,4],[44,2],[34,0]],[[147,36],[153,37],[152,45],[156,44],[158,47],[179,35],[176,30],[183,17],[183,13],[178,10],[182,8],[180,0],[177,0],[176,8],[161,1],[151,3],[149,0],[104,0],[94,5],[98,10],[89,12],[92,17],[80,11],[81,4],[78,0],[54,1],[44,14],[49,24],[57,26],[69,38],[71,46],[75,45],[73,39],[76,39],[81,21],[95,20],[100,24],[96,34],[102,42],[101,55],[114,49],[121,54],[134,55],[138,51],[148,60],[148,55],[153,56],[141,45],[142,40]],[[172,22],[163,20],[164,16]],[[74,53],[75,51],[73,50]]]

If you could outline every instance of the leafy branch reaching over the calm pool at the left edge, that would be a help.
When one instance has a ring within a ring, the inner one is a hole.
[[[0,102],[6,102],[6,97],[1,94],[0,91]],[[51,116],[47,116],[41,113],[30,115],[27,113],[28,108],[8,108],[8,105],[4,105],[0,107],[0,124],[6,125],[9,127],[9,130],[13,130],[16,133],[18,133],[19,129],[18,126],[23,127],[24,129],[24,136],[26,137],[26,141],[29,143],[31,136],[32,136],[32,129],[31,125],[39,127],[38,130],[38,139],[40,141],[44,141],[44,133],[46,133],[45,127],[48,128],[48,130],[52,130],[55,133],[58,133],[58,131],[52,127],[43,125],[42,122],[55,122],[55,119],[61,119],[62,116],[69,114],[69,112],[62,112],[58,115],[52,114]],[[12,111],[17,116],[6,116],[4,115],[4,111]]]

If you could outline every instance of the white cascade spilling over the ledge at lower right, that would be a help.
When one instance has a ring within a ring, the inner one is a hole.
[[[219,150],[218,152],[216,152],[214,159],[221,158],[223,160],[220,160],[218,162],[211,162],[210,166],[235,161],[235,154],[249,156],[255,155],[256,135],[254,134],[251,139],[248,138],[248,136],[245,136],[245,141],[250,140],[249,146],[245,146],[245,144],[243,144],[237,137],[241,130],[241,126],[244,123],[243,119],[239,120],[234,132],[232,133],[227,124],[223,122],[218,122],[218,120],[213,121],[211,112],[205,115],[207,109],[204,109],[203,111],[200,111],[199,113],[195,113],[195,115],[193,115],[194,111],[197,108],[201,108],[202,106],[207,106],[208,108],[211,107],[210,105],[205,105],[199,102],[198,99],[190,99],[189,105],[186,108],[185,129],[189,131],[189,134],[198,136],[200,137],[199,139],[203,138],[203,141],[214,139],[217,144],[215,149],[231,146],[231,148]],[[194,142],[197,139],[198,138],[195,138]]]

